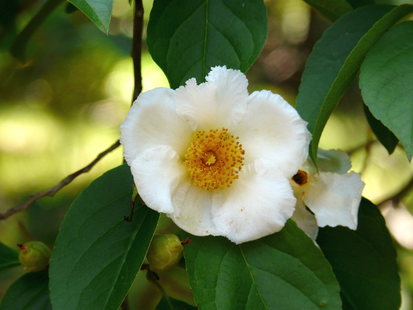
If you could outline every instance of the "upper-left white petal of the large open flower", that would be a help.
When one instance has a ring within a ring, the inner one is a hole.
[[[144,150],[159,145],[170,145],[185,155],[193,132],[176,114],[174,93],[169,88],[155,88],[141,93],[133,103],[120,129],[128,165]]]

